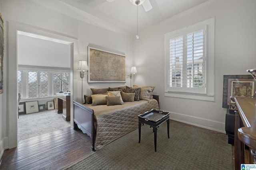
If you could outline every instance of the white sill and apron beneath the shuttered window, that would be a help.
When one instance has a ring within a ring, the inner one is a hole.
[[[194,94],[194,93],[178,93],[178,92],[164,92],[165,97],[182,98],[192,100],[203,100],[208,102],[215,102],[214,94]]]

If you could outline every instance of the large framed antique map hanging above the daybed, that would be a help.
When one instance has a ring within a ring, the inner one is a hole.
[[[88,83],[126,82],[125,55],[88,46]]]

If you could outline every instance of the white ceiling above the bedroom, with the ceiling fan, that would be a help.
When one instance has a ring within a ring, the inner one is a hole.
[[[129,0],[59,0],[88,14],[112,23],[130,33],[137,30],[137,6]],[[149,0],[152,10],[145,12],[138,6],[138,29],[141,30],[159,21],[202,4],[208,0]]]

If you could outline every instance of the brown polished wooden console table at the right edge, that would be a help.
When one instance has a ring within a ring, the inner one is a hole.
[[[235,123],[235,170],[241,169],[244,164],[244,144],[252,153],[256,163],[256,98],[235,97],[236,123]]]

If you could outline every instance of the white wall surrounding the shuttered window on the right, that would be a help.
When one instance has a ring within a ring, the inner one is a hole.
[[[139,30],[134,44],[134,63],[138,74],[135,84],[156,85],[160,109],[172,112],[172,119],[225,132],[222,108],[223,75],[248,74],[256,68],[256,1],[210,0]],[[215,102],[164,97],[164,34],[216,17],[215,33]]]

